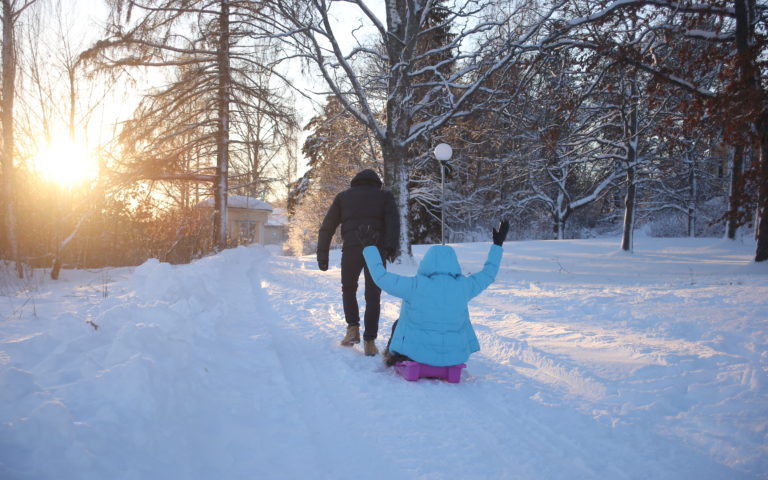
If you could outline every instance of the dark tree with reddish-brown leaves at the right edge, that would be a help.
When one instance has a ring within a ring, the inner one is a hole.
[[[625,39],[597,43],[569,36],[567,41],[595,48],[695,96],[699,108],[689,111],[725,126],[726,141],[735,151],[734,176],[739,174],[741,155],[751,148],[759,185],[755,261],[768,260],[768,90],[761,66],[768,48],[761,33],[768,24],[768,6],[757,0],[617,0],[586,10],[581,18],[601,23],[624,15],[663,19],[645,22],[639,31],[638,38],[645,39],[644,44],[652,39],[655,48]],[[571,22],[569,30],[576,31],[573,26],[578,23]],[[696,62],[681,62],[681,57]],[[718,75],[713,81],[712,75],[702,72]],[[734,181],[734,186],[738,184]],[[731,193],[739,194],[736,188]],[[732,201],[731,211],[736,207]],[[729,230],[733,231],[732,224]]]

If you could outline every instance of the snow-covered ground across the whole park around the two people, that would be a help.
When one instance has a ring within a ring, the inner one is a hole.
[[[505,245],[460,384],[338,346],[338,252],[0,275],[0,478],[768,478],[768,265],[617,246]]]

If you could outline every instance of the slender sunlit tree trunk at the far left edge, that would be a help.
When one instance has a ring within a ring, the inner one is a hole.
[[[2,200],[5,206],[5,235],[9,249],[9,256],[16,262],[16,274],[24,277],[24,267],[19,258],[19,245],[16,232],[16,198],[15,183],[16,173],[14,160],[14,134],[13,134],[13,101],[16,86],[16,54],[14,51],[14,12],[11,0],[3,2],[3,91],[2,91],[2,128],[3,150],[2,171],[3,191]]]

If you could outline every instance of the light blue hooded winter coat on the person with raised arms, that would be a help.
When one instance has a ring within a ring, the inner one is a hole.
[[[438,367],[466,362],[480,350],[467,303],[496,279],[502,252],[491,245],[483,269],[464,276],[453,248],[435,245],[416,276],[404,277],[387,272],[378,249],[366,247],[363,255],[376,285],[403,299],[390,350]]]

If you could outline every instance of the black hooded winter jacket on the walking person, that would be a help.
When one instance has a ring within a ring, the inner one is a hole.
[[[343,247],[360,245],[357,229],[370,225],[379,232],[378,246],[395,251],[400,235],[400,218],[395,197],[381,189],[381,180],[373,170],[355,175],[350,188],[336,195],[320,226],[317,238],[318,258],[328,256],[333,233],[341,224]]]

